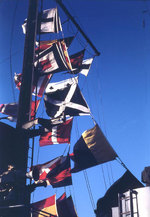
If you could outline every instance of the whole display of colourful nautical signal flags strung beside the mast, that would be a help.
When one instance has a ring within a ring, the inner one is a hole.
[[[22,25],[26,34],[27,20]],[[44,10],[38,15],[38,34],[58,33],[62,31],[60,17],[57,8]],[[93,57],[84,59],[85,49],[69,55],[68,49],[74,37],[61,38],[36,43],[34,61],[34,80],[32,85],[33,96],[38,100],[31,102],[31,119],[22,126],[22,129],[30,131],[35,125],[41,125],[37,135],[40,135],[41,147],[55,144],[70,144],[73,118],[80,115],[90,115],[90,108],[82,95],[79,85],[79,73],[88,75]],[[55,73],[66,72],[73,77],[49,83]],[[14,76],[16,88],[20,90],[22,74]],[[44,95],[44,104],[49,119],[36,118],[40,101]],[[17,119],[18,104],[0,104],[0,113]],[[38,171],[38,181],[46,181],[53,188],[72,185],[72,173],[76,173],[90,167],[112,161],[117,157],[98,124],[82,133],[80,139],[74,145],[73,153],[67,156],[59,156],[43,164],[37,164],[30,168],[30,176],[33,171]],[[74,167],[71,168],[70,160]],[[77,217],[72,197],[63,194],[56,200],[53,195],[45,200],[31,204],[33,217]]]

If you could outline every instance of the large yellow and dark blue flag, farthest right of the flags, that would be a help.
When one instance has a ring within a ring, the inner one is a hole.
[[[117,157],[104,134],[98,125],[92,129],[86,130],[77,141],[73,149],[73,156],[70,155],[75,162],[71,172],[79,172],[98,164],[102,164]]]

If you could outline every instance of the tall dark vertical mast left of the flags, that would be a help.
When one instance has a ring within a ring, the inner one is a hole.
[[[29,149],[29,138],[23,136],[22,125],[30,120],[30,110],[32,101],[32,81],[34,72],[34,53],[35,53],[35,41],[37,32],[37,18],[38,18],[38,0],[29,0],[26,36],[24,45],[24,58],[23,58],[23,69],[22,69],[22,84],[19,95],[19,107],[16,129],[18,133],[19,144],[16,144],[18,152],[18,160],[16,162],[17,169],[20,169],[24,174],[22,180],[22,187],[26,189],[26,172],[28,164],[28,149]],[[25,190],[26,191],[26,190]],[[25,209],[17,212],[15,217],[30,217],[30,210],[28,206],[30,204],[30,193],[24,195],[19,192],[20,204],[25,205]]]

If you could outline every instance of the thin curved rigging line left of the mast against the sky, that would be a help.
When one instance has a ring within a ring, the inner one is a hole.
[[[15,18],[16,18],[16,11],[18,6],[18,0],[16,0],[16,5],[13,13],[12,19],[12,27],[11,27],[11,34],[10,34],[10,77],[11,77],[11,88],[12,88],[12,95],[14,102],[16,102],[15,91],[14,91],[14,82],[13,82],[13,71],[12,71],[12,41],[13,41],[13,33],[14,33],[14,25],[15,25]]]

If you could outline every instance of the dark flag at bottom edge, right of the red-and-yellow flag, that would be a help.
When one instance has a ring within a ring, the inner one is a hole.
[[[60,217],[78,217],[71,196],[57,201],[57,211]]]

